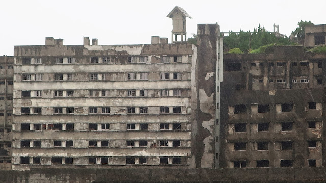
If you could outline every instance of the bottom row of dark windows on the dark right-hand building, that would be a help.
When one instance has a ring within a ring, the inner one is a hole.
[[[233,168],[246,168],[247,161],[233,161]],[[293,160],[281,160],[280,167],[292,167]],[[308,159],[309,167],[316,167],[316,159]],[[269,160],[256,160],[256,167],[269,167]]]

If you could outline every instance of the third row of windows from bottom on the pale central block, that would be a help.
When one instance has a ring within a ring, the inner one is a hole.
[[[64,127],[63,127],[64,126]],[[127,130],[148,130],[148,123],[127,123]],[[181,130],[181,123],[160,123],[160,130]],[[74,130],[74,123],[55,123],[55,124],[31,124],[31,123],[21,123],[21,130]],[[89,123],[89,130],[109,130],[110,123]]]

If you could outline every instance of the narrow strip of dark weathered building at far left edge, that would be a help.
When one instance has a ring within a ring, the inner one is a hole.
[[[0,57],[0,170],[11,169],[14,57]]]

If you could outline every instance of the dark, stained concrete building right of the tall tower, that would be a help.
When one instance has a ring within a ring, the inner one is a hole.
[[[224,55],[221,167],[325,166],[325,60],[301,46]]]

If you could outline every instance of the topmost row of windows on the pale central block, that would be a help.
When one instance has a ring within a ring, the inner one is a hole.
[[[187,62],[191,62],[192,56],[188,56]],[[58,57],[55,58],[56,64],[74,64],[74,57]],[[90,57],[90,63],[114,63],[111,56]],[[148,63],[148,56],[128,56],[127,63]],[[182,63],[182,56],[162,56],[161,63]],[[42,58],[22,58],[23,65],[42,64]],[[8,67],[9,68],[9,67]]]

